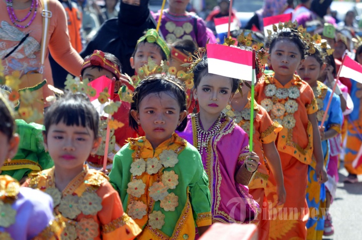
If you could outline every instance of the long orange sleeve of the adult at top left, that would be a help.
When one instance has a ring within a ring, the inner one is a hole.
[[[55,18],[54,31],[49,33],[51,34],[48,45],[50,53],[65,70],[74,76],[79,76],[83,59],[70,44],[65,10],[59,1],[50,0],[49,6],[52,18]]]

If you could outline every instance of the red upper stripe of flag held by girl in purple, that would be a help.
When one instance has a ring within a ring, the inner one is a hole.
[[[225,45],[207,44],[208,58],[252,66],[252,52]]]

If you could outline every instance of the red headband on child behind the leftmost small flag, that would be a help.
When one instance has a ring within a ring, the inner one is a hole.
[[[112,72],[114,75],[116,75],[117,79],[119,80],[121,77],[121,72],[119,71],[119,66],[117,64],[111,62],[110,60],[105,58],[104,52],[100,50],[95,50],[91,57],[85,58],[84,63],[82,65],[82,71],[83,69],[91,66],[100,66],[107,71]]]

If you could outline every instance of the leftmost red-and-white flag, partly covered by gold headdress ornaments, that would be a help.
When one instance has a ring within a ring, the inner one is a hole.
[[[88,86],[93,87],[96,89],[97,93],[94,97],[90,97],[92,104],[96,107],[98,113],[101,116],[108,117],[108,114],[104,112],[104,107],[110,103],[110,100],[113,100],[113,93],[115,88],[115,81],[109,79],[106,76],[99,77],[91,82],[88,83]],[[107,94],[104,94],[103,90],[105,88],[108,88],[108,96]],[[100,95],[104,95],[109,100],[106,103],[101,103],[98,98]]]

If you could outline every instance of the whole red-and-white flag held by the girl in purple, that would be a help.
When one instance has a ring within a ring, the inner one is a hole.
[[[209,73],[252,81],[253,53],[218,44],[207,44]]]

